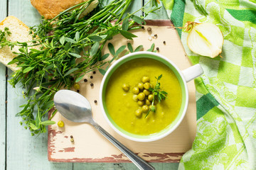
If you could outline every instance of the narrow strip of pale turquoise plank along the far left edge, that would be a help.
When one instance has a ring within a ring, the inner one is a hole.
[[[0,1],[0,21],[7,16],[7,1]],[[6,162],[6,67],[0,64],[0,169]]]

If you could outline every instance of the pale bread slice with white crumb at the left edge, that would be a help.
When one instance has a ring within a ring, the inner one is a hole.
[[[9,31],[11,32],[11,35],[7,37],[7,40],[11,42],[28,42],[32,40],[32,35],[29,34],[30,29],[22,21],[18,20],[18,18],[8,16],[4,21],[1,21],[0,30],[4,30],[6,27],[9,28]],[[14,46],[11,50],[11,47],[6,46],[0,49],[0,62],[13,71],[20,68],[16,67],[16,64],[9,65],[8,63],[16,57],[13,52],[19,52],[18,48],[18,46]]]

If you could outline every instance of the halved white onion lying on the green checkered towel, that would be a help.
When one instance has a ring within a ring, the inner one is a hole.
[[[214,58],[222,52],[223,33],[215,24],[187,22],[185,31],[190,31],[187,45],[196,54]]]

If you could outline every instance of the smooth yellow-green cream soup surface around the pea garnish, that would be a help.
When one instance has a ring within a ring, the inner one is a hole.
[[[165,100],[156,103],[156,113],[150,112],[145,118],[135,115],[138,106],[132,97],[132,89],[142,82],[142,77],[149,77],[150,84],[156,85],[156,78],[162,74],[161,89],[168,93]],[[129,84],[129,91],[122,89]],[[107,84],[106,106],[114,123],[120,128],[136,135],[151,135],[167,128],[178,115],[181,108],[181,86],[174,72],[165,64],[148,58],[139,58],[122,64]]]

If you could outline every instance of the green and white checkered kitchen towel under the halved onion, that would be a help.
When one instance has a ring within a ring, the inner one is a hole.
[[[198,0],[207,16],[191,0],[162,2],[175,26],[215,23],[224,36],[223,58],[211,59],[191,52],[188,33],[178,30],[191,62],[204,70],[195,80],[196,139],[179,169],[256,169],[256,1]]]

